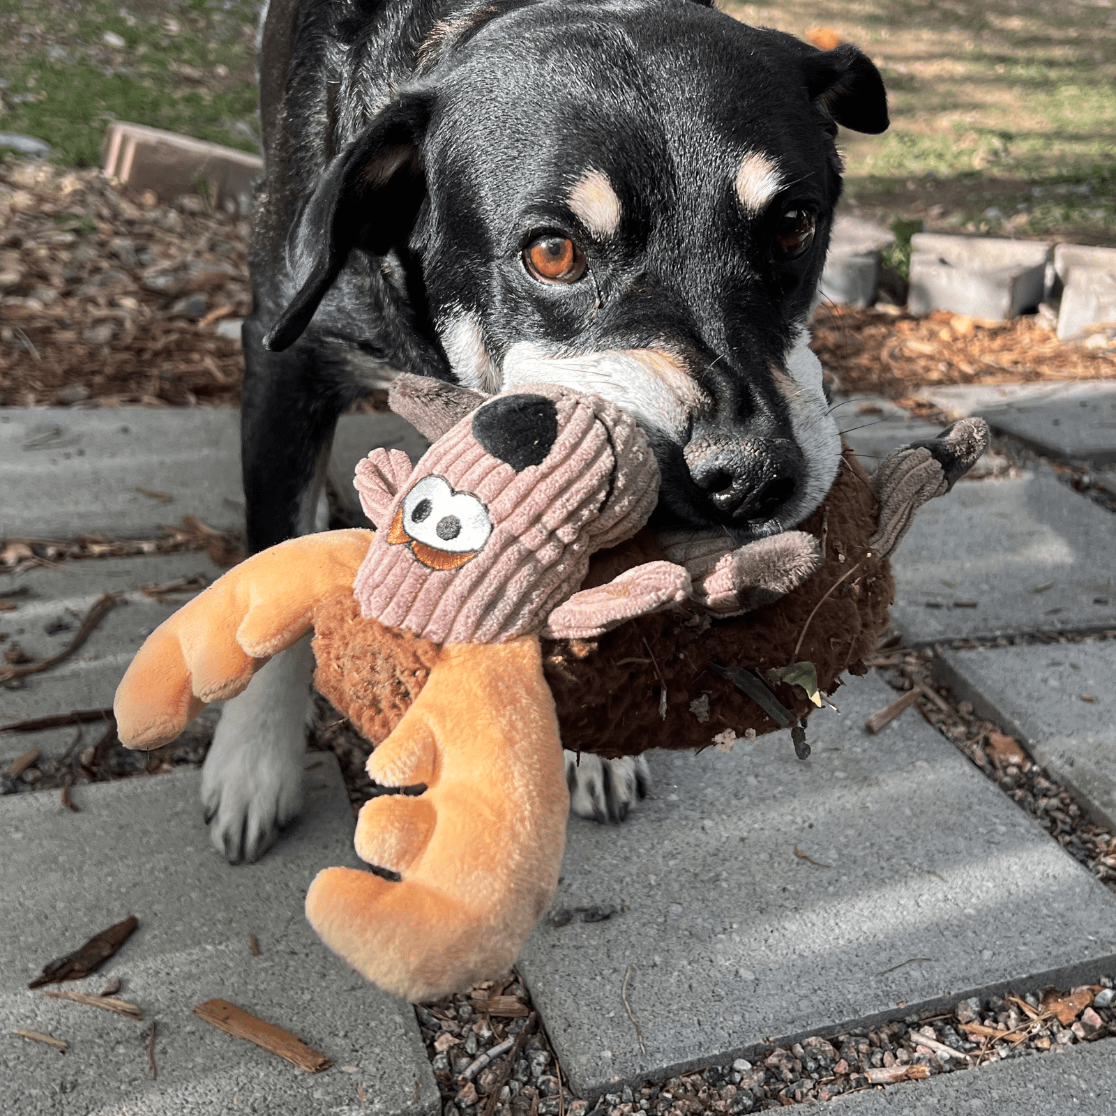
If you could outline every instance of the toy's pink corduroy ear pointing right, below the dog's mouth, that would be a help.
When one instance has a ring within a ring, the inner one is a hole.
[[[575,593],[547,619],[548,639],[593,639],[629,620],[685,600],[690,575],[670,561],[650,561],[591,589]]]

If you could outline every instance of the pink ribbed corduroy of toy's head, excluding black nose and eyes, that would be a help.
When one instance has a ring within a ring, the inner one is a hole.
[[[537,465],[517,473],[485,452],[470,414],[427,450],[389,504],[386,491],[376,490],[379,478],[398,477],[400,462],[379,450],[358,466],[357,489],[378,528],[354,584],[363,616],[435,643],[502,643],[538,632],[580,588],[590,555],[647,521],[658,497],[658,466],[629,415],[597,396],[552,385],[506,394],[542,395],[557,407],[558,436]],[[432,561],[462,556],[432,557],[407,541],[401,527],[407,494],[430,477],[449,485],[433,482],[446,507],[482,519],[472,501],[448,503],[450,489],[454,499],[469,493],[491,523],[483,545],[452,569],[433,569],[414,551]]]

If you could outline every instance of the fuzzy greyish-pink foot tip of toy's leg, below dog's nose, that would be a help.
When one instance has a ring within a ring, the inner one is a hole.
[[[762,608],[797,589],[821,565],[818,540],[783,531],[724,555],[694,583],[694,597],[711,612],[731,615]]]

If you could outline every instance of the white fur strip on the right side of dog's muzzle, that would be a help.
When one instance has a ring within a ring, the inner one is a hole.
[[[822,387],[821,362],[810,349],[810,335],[799,330],[787,354],[788,375],[777,375],[790,411],[795,441],[806,460],[806,483],[779,517],[783,529],[800,523],[826,498],[840,465],[840,433],[829,413]]]

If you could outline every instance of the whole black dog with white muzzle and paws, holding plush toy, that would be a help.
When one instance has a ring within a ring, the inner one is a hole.
[[[887,126],[855,47],[695,0],[270,0],[243,330],[254,550],[324,526],[334,425],[385,369],[614,400],[652,439],[663,525],[804,519],[840,443],[807,348],[837,125]],[[224,710],[202,795],[253,859],[298,810],[311,656]],[[583,760],[619,818],[642,763]]]

